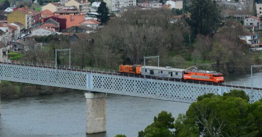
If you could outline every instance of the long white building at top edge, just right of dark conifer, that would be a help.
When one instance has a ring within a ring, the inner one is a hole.
[[[109,11],[118,11],[123,7],[133,7],[137,5],[136,0],[104,0]]]

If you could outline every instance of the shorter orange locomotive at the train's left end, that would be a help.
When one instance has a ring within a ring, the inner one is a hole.
[[[121,73],[131,73],[131,74],[141,74],[142,65],[120,65],[119,72]]]

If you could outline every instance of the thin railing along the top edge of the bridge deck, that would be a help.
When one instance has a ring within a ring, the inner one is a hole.
[[[232,82],[224,82],[224,83],[213,83],[206,81],[193,81],[193,80],[183,80],[183,79],[173,79],[173,78],[163,78],[163,77],[151,77],[144,75],[134,75],[134,74],[126,74],[119,73],[118,70],[107,70],[107,69],[97,69],[93,67],[81,67],[81,66],[69,66],[69,65],[57,65],[51,63],[34,63],[28,61],[14,61],[11,62],[0,62],[4,64],[12,64],[12,65],[21,65],[21,66],[32,66],[32,67],[41,67],[48,69],[57,69],[57,70],[66,70],[66,71],[77,71],[77,72],[86,72],[86,73],[94,73],[94,74],[105,74],[105,75],[114,75],[114,76],[124,76],[124,77],[134,77],[134,78],[146,78],[146,79],[154,79],[154,80],[163,80],[163,81],[176,81],[176,82],[184,82],[184,83],[193,83],[193,84],[205,84],[205,85],[215,85],[215,86],[227,86],[233,88],[243,88],[243,89],[251,89],[246,86],[244,83],[232,83]]]

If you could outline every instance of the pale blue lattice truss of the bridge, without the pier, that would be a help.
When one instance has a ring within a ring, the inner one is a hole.
[[[194,102],[198,96],[206,93],[223,95],[225,92],[237,89],[235,87],[123,77],[112,75],[112,73],[82,72],[61,68],[55,70],[53,68],[0,63],[0,80],[179,102]],[[251,89],[242,90],[245,90],[250,96],[251,102],[262,98],[262,92],[259,90],[253,89],[253,92]]]

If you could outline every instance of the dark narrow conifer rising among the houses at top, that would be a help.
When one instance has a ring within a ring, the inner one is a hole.
[[[109,9],[106,7],[106,3],[102,1],[97,9],[97,13],[99,14],[98,18],[101,20],[102,24],[106,24],[109,20],[108,11]]]

